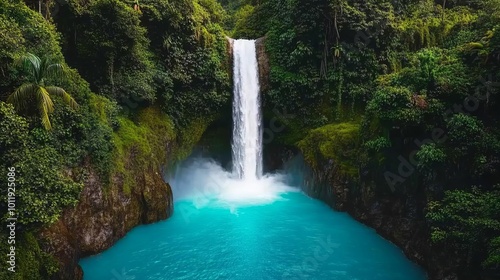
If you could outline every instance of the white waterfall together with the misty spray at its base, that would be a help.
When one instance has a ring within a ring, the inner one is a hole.
[[[234,209],[272,203],[299,191],[285,174],[262,174],[262,119],[254,40],[233,40],[233,170],[210,159],[192,158],[171,182],[175,200],[192,200],[197,208],[213,203]],[[180,210],[182,213],[182,209]]]

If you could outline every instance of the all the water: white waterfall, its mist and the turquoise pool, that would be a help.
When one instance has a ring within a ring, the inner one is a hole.
[[[255,42],[233,44],[232,170],[205,158],[182,163],[166,178],[173,216],[81,260],[84,279],[425,279],[374,230],[302,193],[293,165],[262,173]]]

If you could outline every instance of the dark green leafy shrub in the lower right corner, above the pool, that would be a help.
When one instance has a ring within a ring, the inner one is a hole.
[[[446,191],[441,201],[431,201],[426,218],[431,240],[447,244],[464,256],[476,256],[485,267],[498,267],[500,191],[472,187]]]

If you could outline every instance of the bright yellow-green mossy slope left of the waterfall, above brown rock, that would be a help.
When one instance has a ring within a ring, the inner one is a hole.
[[[140,176],[134,170],[170,167],[185,159],[213,119],[198,118],[176,128],[172,119],[156,107],[140,110],[135,121],[118,117],[119,129],[112,136],[112,176],[121,177],[124,192],[130,193],[136,176]]]

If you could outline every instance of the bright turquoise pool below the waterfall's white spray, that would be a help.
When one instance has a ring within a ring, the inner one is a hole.
[[[280,196],[236,208],[177,201],[170,219],[139,226],[81,260],[84,279],[426,279],[400,249],[347,214],[301,192]]]

